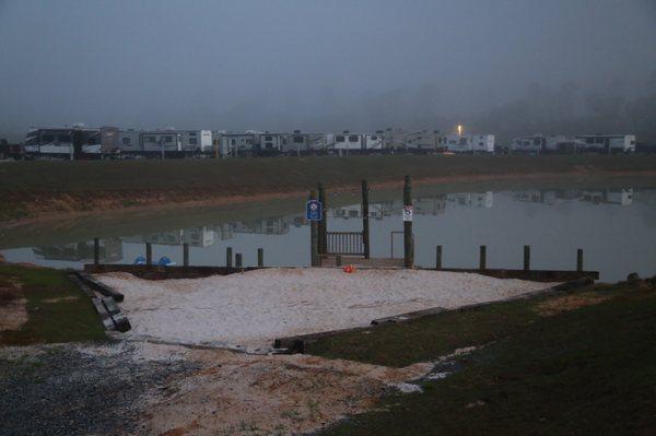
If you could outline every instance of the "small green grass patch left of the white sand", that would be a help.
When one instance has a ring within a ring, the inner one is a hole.
[[[16,305],[17,301],[24,304]],[[4,306],[0,313],[10,305],[23,306],[27,319],[17,330],[0,331],[0,345],[105,339],[105,330],[89,297],[63,271],[0,266],[0,306]],[[9,314],[3,314],[9,318],[16,311],[9,309]]]

